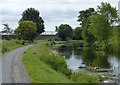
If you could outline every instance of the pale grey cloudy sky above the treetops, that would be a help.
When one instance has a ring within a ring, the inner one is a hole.
[[[118,9],[120,0],[0,0],[0,31],[2,24],[16,29],[22,12],[27,8],[39,10],[44,20],[45,31],[55,31],[55,26],[69,24],[72,28],[79,26],[79,11],[90,7],[97,8],[101,2],[109,2]]]

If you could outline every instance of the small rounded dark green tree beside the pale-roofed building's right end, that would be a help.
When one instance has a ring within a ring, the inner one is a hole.
[[[67,24],[61,24],[58,27],[58,37],[62,40],[67,40],[67,38],[73,38],[73,29]]]

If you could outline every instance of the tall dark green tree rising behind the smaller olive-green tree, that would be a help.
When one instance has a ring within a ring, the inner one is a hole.
[[[20,19],[20,21],[33,21],[34,23],[36,23],[36,27],[37,27],[37,34],[40,34],[42,32],[44,32],[44,21],[42,19],[42,17],[39,16],[40,13],[38,10],[35,10],[34,8],[28,8],[27,10],[25,10],[22,13],[22,18]]]

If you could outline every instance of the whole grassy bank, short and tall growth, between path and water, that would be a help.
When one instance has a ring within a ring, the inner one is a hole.
[[[26,71],[32,83],[97,83],[98,75],[71,73],[65,59],[50,51],[49,44],[41,42],[23,54]]]

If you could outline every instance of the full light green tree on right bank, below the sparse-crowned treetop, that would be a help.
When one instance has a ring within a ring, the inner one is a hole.
[[[110,24],[105,16],[95,14],[90,17],[90,31],[97,38],[99,42],[104,42],[106,48],[108,47],[108,38],[110,36]]]

